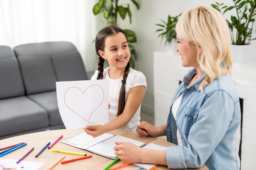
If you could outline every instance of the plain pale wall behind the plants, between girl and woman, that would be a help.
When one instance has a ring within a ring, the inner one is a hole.
[[[95,0],[96,1],[96,0]],[[211,7],[215,0],[137,0],[140,9],[137,10],[130,0],[121,0],[120,2],[130,4],[132,8],[132,24],[128,18],[125,21],[119,20],[119,27],[122,29],[132,29],[137,35],[135,49],[138,59],[136,61],[136,70],[144,73],[147,79],[147,91],[142,102],[141,109],[154,114],[154,94],[153,94],[153,52],[165,51],[164,41],[157,38],[160,20],[167,20],[168,15],[178,15],[186,10],[205,5]],[[231,0],[217,0],[232,4]],[[96,1],[97,2],[97,1]],[[229,18],[229,17],[228,17]],[[100,30],[106,24],[101,19],[97,22],[97,28]],[[164,62],[164,61],[163,61]],[[97,66],[95,67],[97,69]],[[166,80],[168,81],[168,80]],[[164,81],[163,81],[164,83]]]

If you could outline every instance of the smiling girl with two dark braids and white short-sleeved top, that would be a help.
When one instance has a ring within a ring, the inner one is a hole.
[[[136,132],[147,85],[144,74],[130,67],[127,35],[117,26],[105,27],[96,36],[95,48],[98,71],[91,79],[109,79],[109,123],[84,130],[93,137],[115,129]],[[105,60],[109,67],[103,69]]]

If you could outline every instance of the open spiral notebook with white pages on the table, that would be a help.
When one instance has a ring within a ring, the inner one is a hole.
[[[117,155],[115,155],[114,150],[114,146],[116,146],[115,141],[130,142],[139,147],[145,145],[145,143],[141,141],[130,139],[128,137],[123,137],[120,135],[104,133],[94,138],[91,135],[88,135],[86,132],[83,132],[74,137],[70,137],[69,139],[61,141],[61,143],[68,144],[70,146],[74,146],[76,148],[80,148],[83,150],[87,150],[89,152],[101,155],[103,157],[117,159]]]

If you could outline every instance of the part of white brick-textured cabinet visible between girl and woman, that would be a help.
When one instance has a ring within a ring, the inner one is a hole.
[[[155,126],[160,126],[167,122],[173,93],[189,68],[182,67],[175,52],[154,52],[153,68]]]

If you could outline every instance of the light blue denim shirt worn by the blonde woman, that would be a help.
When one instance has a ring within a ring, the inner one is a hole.
[[[183,146],[168,147],[168,168],[200,168],[209,170],[239,170],[240,158],[240,102],[236,86],[230,75],[221,75],[204,87],[199,85],[206,74],[191,86],[195,76],[191,69],[175,91],[171,106],[182,92],[176,121],[172,111],[168,116],[167,140],[177,145],[177,128]]]

